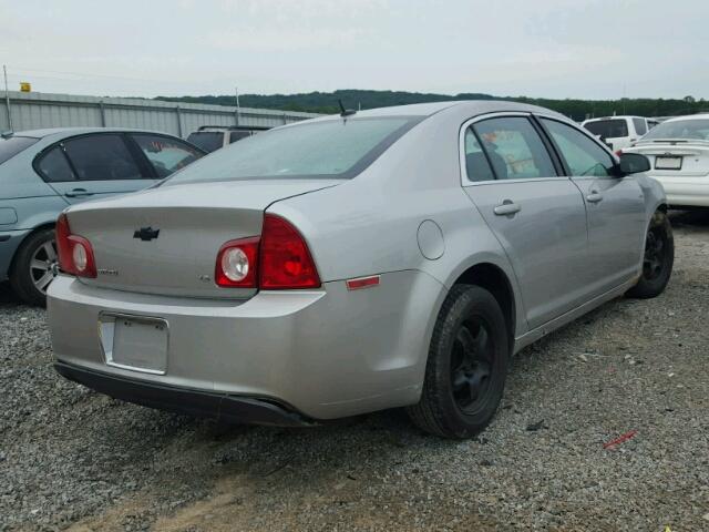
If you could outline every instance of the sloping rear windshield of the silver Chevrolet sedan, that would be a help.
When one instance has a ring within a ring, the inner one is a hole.
[[[351,178],[421,117],[309,122],[249,136],[187,166],[166,184],[253,178]]]

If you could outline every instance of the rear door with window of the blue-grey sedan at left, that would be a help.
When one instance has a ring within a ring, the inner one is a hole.
[[[66,139],[42,154],[35,167],[70,203],[134,192],[156,181],[123,133]]]

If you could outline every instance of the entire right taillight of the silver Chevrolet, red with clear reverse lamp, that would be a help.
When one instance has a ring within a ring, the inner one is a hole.
[[[302,235],[288,221],[266,214],[261,236],[229,241],[219,248],[218,286],[286,290],[317,288],[318,270]]]

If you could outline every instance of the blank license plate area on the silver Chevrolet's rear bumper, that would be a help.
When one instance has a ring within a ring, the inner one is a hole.
[[[106,364],[164,375],[167,369],[167,321],[162,318],[104,314],[101,344]]]

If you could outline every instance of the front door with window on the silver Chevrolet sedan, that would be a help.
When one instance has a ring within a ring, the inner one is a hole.
[[[586,203],[588,264],[583,272],[593,294],[603,294],[639,270],[646,233],[643,191],[633,175],[616,177],[613,156],[582,130],[549,117],[541,123]]]

